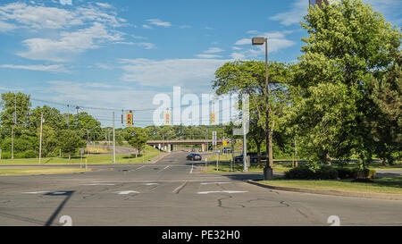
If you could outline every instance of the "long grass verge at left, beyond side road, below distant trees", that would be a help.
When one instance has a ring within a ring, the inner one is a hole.
[[[147,152],[144,156],[135,155],[116,155],[116,164],[141,164],[147,163],[148,160],[155,156],[163,154],[153,147],[147,147]],[[90,155],[82,157],[82,164],[85,164],[88,159],[88,164],[113,164],[113,155]],[[2,159],[0,165],[16,165],[16,164],[38,164],[38,158],[16,158]],[[41,164],[81,164],[80,156],[73,156],[69,161],[68,157],[46,157],[41,159]]]

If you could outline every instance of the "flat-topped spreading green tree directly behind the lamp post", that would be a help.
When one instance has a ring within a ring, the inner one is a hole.
[[[270,117],[269,128],[265,127],[265,63],[256,61],[236,61],[225,63],[215,72],[213,88],[218,95],[241,93],[250,98],[250,114],[255,114],[255,125],[259,129],[255,133],[269,134],[267,155],[273,162],[272,139],[274,131],[281,130],[285,107],[289,105],[290,79],[289,67],[284,63],[271,62],[268,64],[270,84]],[[253,115],[254,116],[254,115]]]

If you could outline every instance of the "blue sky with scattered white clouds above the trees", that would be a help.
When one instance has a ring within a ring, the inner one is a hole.
[[[400,26],[402,1],[364,2]],[[21,91],[32,105],[62,113],[66,105],[138,110],[134,118],[146,125],[156,94],[177,86],[201,97],[223,63],[263,61],[264,46],[252,46],[252,37],[269,38],[269,60],[297,62],[307,7],[308,0],[0,0],[0,93]],[[111,110],[86,112],[111,124]]]

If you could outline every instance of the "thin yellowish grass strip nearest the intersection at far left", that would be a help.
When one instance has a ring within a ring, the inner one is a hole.
[[[87,172],[91,171],[90,169]],[[11,168],[0,169],[0,176],[10,175],[32,175],[32,174],[57,174],[57,173],[74,173],[85,172],[85,168]]]

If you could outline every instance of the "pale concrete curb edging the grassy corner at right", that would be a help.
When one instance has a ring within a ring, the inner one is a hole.
[[[260,180],[248,180],[247,182],[259,187],[267,189],[276,189],[284,191],[294,191],[302,193],[313,193],[331,196],[352,197],[352,198],[378,198],[388,200],[402,200],[402,194],[390,194],[390,193],[373,193],[373,192],[357,192],[357,191],[341,191],[335,189],[307,189],[307,188],[293,188],[293,187],[277,187],[259,183]]]

